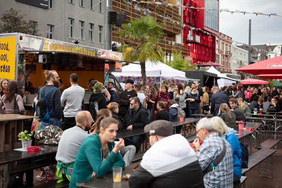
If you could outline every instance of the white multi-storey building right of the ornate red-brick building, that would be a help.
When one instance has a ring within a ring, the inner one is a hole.
[[[231,45],[231,71],[236,74],[235,69],[248,65],[248,51]]]

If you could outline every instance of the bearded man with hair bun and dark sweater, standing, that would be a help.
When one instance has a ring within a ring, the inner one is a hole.
[[[41,121],[41,126],[38,130],[42,130],[48,125],[55,125],[61,128],[62,125],[62,106],[61,106],[61,93],[58,89],[60,86],[59,75],[55,70],[45,70],[44,72],[47,84],[42,86],[39,90],[41,97],[44,97],[47,94],[47,108],[49,109],[50,118],[46,121]],[[39,98],[39,94],[38,97]]]

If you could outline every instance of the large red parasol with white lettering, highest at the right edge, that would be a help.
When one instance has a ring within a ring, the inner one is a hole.
[[[280,74],[282,72],[282,56],[259,61],[236,70],[250,74]]]

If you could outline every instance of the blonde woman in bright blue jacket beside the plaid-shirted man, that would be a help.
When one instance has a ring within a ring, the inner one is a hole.
[[[218,133],[218,135],[227,140],[228,143],[231,145],[233,150],[233,182],[239,181],[242,175],[242,150],[239,143],[239,140],[235,133],[234,129],[227,127],[227,125],[223,122],[223,120],[219,117],[213,117],[211,118],[210,122],[214,125],[215,131]]]

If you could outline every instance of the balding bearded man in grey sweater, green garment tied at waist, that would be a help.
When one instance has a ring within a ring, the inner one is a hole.
[[[80,111],[75,116],[76,126],[64,131],[56,154],[58,182],[64,181],[62,174],[70,180],[76,154],[88,136],[85,130],[90,129],[91,120],[90,112]]]

